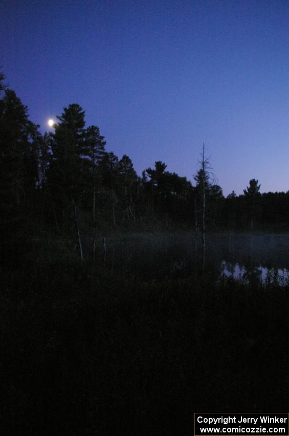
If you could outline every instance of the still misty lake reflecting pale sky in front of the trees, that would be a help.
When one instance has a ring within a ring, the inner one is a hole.
[[[141,280],[187,278],[199,271],[217,277],[281,280],[289,272],[289,234],[189,232],[132,233],[99,241],[98,262]]]

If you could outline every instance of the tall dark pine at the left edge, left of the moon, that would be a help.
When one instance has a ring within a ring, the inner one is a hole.
[[[15,92],[0,88],[0,229],[3,246],[18,256],[32,225],[40,133]]]

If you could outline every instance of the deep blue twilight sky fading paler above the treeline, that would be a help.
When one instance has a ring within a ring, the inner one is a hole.
[[[0,39],[42,132],[78,103],[138,174],[192,180],[205,142],[225,195],[289,190],[287,0],[2,0]]]

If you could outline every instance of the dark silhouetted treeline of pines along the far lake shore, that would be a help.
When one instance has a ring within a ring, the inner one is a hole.
[[[289,192],[260,194],[252,179],[244,194],[226,199],[201,161],[194,185],[158,161],[138,176],[127,155],[106,150],[97,126],[71,104],[57,116],[54,133],[41,135],[28,109],[0,77],[1,230],[11,242],[35,228],[95,232],[112,228],[262,229],[286,227]]]

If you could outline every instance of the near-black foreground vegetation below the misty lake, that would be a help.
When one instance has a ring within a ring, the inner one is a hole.
[[[31,256],[4,282],[7,434],[189,436],[196,410],[287,410],[288,286]]]

